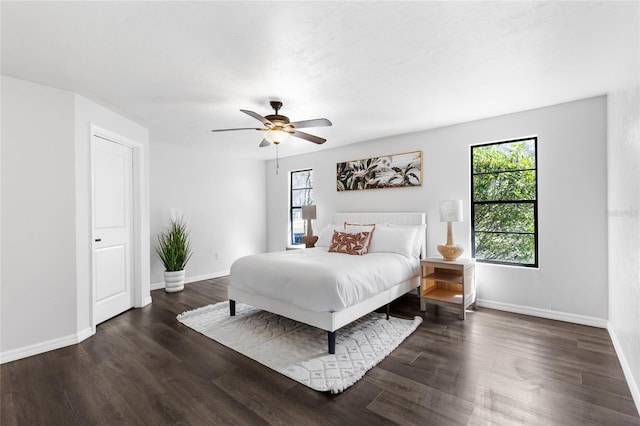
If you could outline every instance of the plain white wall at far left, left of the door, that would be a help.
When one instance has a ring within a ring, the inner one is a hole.
[[[76,333],[73,109],[2,76],[3,353]]]

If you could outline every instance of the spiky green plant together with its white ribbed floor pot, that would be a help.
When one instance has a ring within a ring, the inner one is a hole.
[[[164,264],[164,290],[172,293],[184,288],[184,268],[191,258],[189,230],[184,222],[172,220],[158,235],[156,254]]]

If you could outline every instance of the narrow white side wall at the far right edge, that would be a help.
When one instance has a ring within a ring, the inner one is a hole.
[[[637,5],[640,16],[640,3]],[[640,410],[640,23],[622,49],[635,81],[608,97],[609,333]],[[623,70],[618,70],[623,72]]]

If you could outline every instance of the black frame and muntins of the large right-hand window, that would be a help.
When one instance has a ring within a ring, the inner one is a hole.
[[[499,170],[495,172],[483,172],[483,173],[474,173],[473,170],[473,152],[475,148],[481,148],[491,145],[503,145],[509,143],[516,143],[522,141],[530,141],[534,142],[534,159],[535,159],[535,167],[531,169],[521,169],[521,170]],[[539,267],[539,244],[538,244],[538,232],[539,232],[539,224],[538,224],[538,199],[540,198],[540,194],[538,192],[538,136],[530,136],[518,139],[510,139],[499,142],[489,142],[478,145],[471,145],[470,150],[471,155],[471,255],[473,258],[476,258],[476,221],[475,221],[475,210],[476,205],[499,205],[499,204],[531,204],[533,205],[533,220],[534,220],[534,231],[533,231],[533,239],[534,239],[534,262],[533,263],[522,263],[522,262],[509,262],[504,260],[494,260],[494,259],[476,259],[476,262],[480,263],[489,263],[496,265],[507,265],[507,266],[520,266],[526,268],[538,268]],[[518,171],[534,171],[535,172],[535,193],[536,197],[534,200],[494,200],[494,201],[475,201],[474,200],[474,176],[478,176],[481,174],[497,174],[497,173],[513,173]],[[488,231],[477,231],[480,232],[488,232]],[[501,232],[501,231],[492,231],[504,234],[527,234],[530,235],[529,232]]]

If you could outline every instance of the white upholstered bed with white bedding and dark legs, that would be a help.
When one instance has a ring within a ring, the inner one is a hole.
[[[425,216],[335,213],[315,248],[236,260],[228,289],[230,315],[240,302],[318,327],[327,331],[328,351],[335,353],[338,329],[385,305],[388,316],[390,302],[419,287],[420,258],[426,257]],[[376,225],[369,253],[328,252],[328,235],[343,231],[345,223]]]

